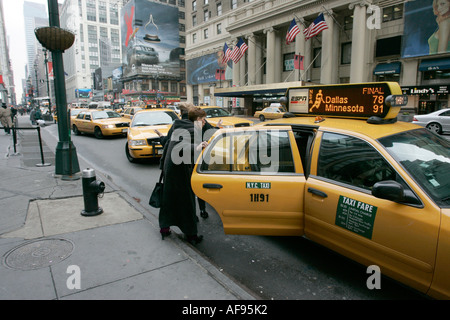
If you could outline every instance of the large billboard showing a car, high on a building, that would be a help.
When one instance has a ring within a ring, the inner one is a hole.
[[[178,8],[131,0],[122,9],[123,76],[180,77]]]

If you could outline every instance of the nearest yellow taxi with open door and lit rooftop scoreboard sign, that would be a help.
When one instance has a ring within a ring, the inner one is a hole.
[[[450,298],[450,142],[397,122],[394,82],[290,88],[285,118],[220,129],[192,175],[225,233],[305,236]],[[233,201],[230,201],[233,199]]]

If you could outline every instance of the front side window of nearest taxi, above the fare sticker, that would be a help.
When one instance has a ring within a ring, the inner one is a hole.
[[[322,137],[317,175],[367,190],[379,181],[398,180],[396,171],[369,143],[329,132]]]

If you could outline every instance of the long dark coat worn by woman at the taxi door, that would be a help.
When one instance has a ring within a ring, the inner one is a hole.
[[[187,130],[190,134],[190,141],[175,141],[172,137],[175,136],[173,133],[178,129]],[[159,226],[161,228],[177,226],[186,235],[196,235],[195,195],[191,187],[195,149],[194,123],[189,120],[175,120],[170,131],[167,138],[161,139],[161,143],[164,145],[161,163],[164,173],[164,187],[159,210]],[[174,163],[174,159],[172,159],[174,148],[190,151],[187,163]]]

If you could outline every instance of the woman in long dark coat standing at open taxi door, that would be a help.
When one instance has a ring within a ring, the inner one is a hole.
[[[197,235],[197,215],[195,194],[191,187],[194,168],[194,153],[207,146],[202,141],[196,144],[194,137],[201,136],[201,128],[206,122],[206,113],[198,107],[191,107],[188,119],[175,120],[169,139],[161,139],[165,152],[161,159],[163,170],[163,196],[159,211],[159,225],[162,239],[170,235],[170,227],[177,226],[191,244],[198,244],[203,236]],[[162,137],[158,130],[155,132]],[[185,152],[189,152],[186,155]],[[181,160],[181,161],[180,161]]]

